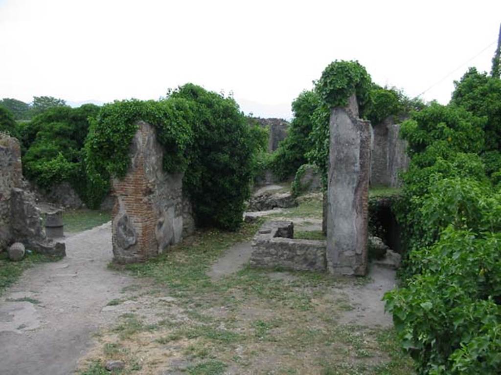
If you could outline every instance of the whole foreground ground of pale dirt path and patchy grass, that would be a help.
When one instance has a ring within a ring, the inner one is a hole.
[[[317,230],[319,206],[268,216]],[[251,269],[258,226],[197,232],[125,272],[107,268],[109,224],[71,236],[67,258],[29,269],[0,299],[0,373],[99,375],[108,359],[124,374],[412,373],[381,301],[393,271]]]

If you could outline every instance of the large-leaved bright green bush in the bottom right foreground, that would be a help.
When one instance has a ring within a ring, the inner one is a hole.
[[[501,366],[499,233],[449,226],[406,288],[385,295],[403,347],[420,374],[497,373]]]

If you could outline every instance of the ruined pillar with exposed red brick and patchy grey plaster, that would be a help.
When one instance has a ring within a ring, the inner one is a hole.
[[[155,129],[139,121],[130,146],[130,166],[113,178],[114,260],[135,262],[163,252],[183,234],[182,174],[163,171]]]

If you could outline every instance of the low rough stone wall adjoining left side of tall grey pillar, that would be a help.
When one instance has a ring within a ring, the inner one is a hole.
[[[253,240],[250,265],[291,270],[325,271],[326,241],[293,239],[292,221],[268,221]]]

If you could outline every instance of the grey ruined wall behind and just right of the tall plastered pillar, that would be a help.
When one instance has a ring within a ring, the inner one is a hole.
[[[407,142],[399,135],[400,124],[393,123],[391,116],[373,128],[371,185],[398,187],[398,174],[409,165]]]

